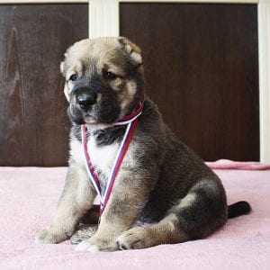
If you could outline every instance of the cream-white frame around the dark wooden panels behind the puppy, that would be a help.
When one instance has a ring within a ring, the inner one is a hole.
[[[79,4],[88,2],[90,38],[119,36],[119,9],[120,4],[124,2],[257,4],[259,43],[260,161],[270,162],[270,0],[0,0],[0,4]]]

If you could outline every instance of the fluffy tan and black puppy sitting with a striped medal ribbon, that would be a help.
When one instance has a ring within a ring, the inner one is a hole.
[[[96,221],[96,194],[98,228],[81,230],[92,237],[76,250],[205,238],[228,217],[250,211],[247,202],[228,208],[219,177],[162,121],[144,93],[142,63],[140,49],[122,37],[81,40],[67,49],[61,72],[73,122],[69,168],[57,215],[38,243],[70,238],[85,215]]]

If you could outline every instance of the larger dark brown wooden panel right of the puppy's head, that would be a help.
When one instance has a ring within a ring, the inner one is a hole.
[[[121,4],[147,92],[205,160],[259,159],[256,4]]]

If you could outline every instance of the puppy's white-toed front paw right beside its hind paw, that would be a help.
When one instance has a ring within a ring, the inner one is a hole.
[[[116,241],[108,242],[104,239],[90,238],[88,240],[80,242],[76,248],[76,251],[88,251],[88,252],[98,252],[98,251],[115,251],[118,250]]]

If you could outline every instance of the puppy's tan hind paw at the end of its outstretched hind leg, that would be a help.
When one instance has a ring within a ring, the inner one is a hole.
[[[125,231],[117,238],[119,249],[137,249],[151,246],[148,243],[148,229],[145,227],[136,227]]]

